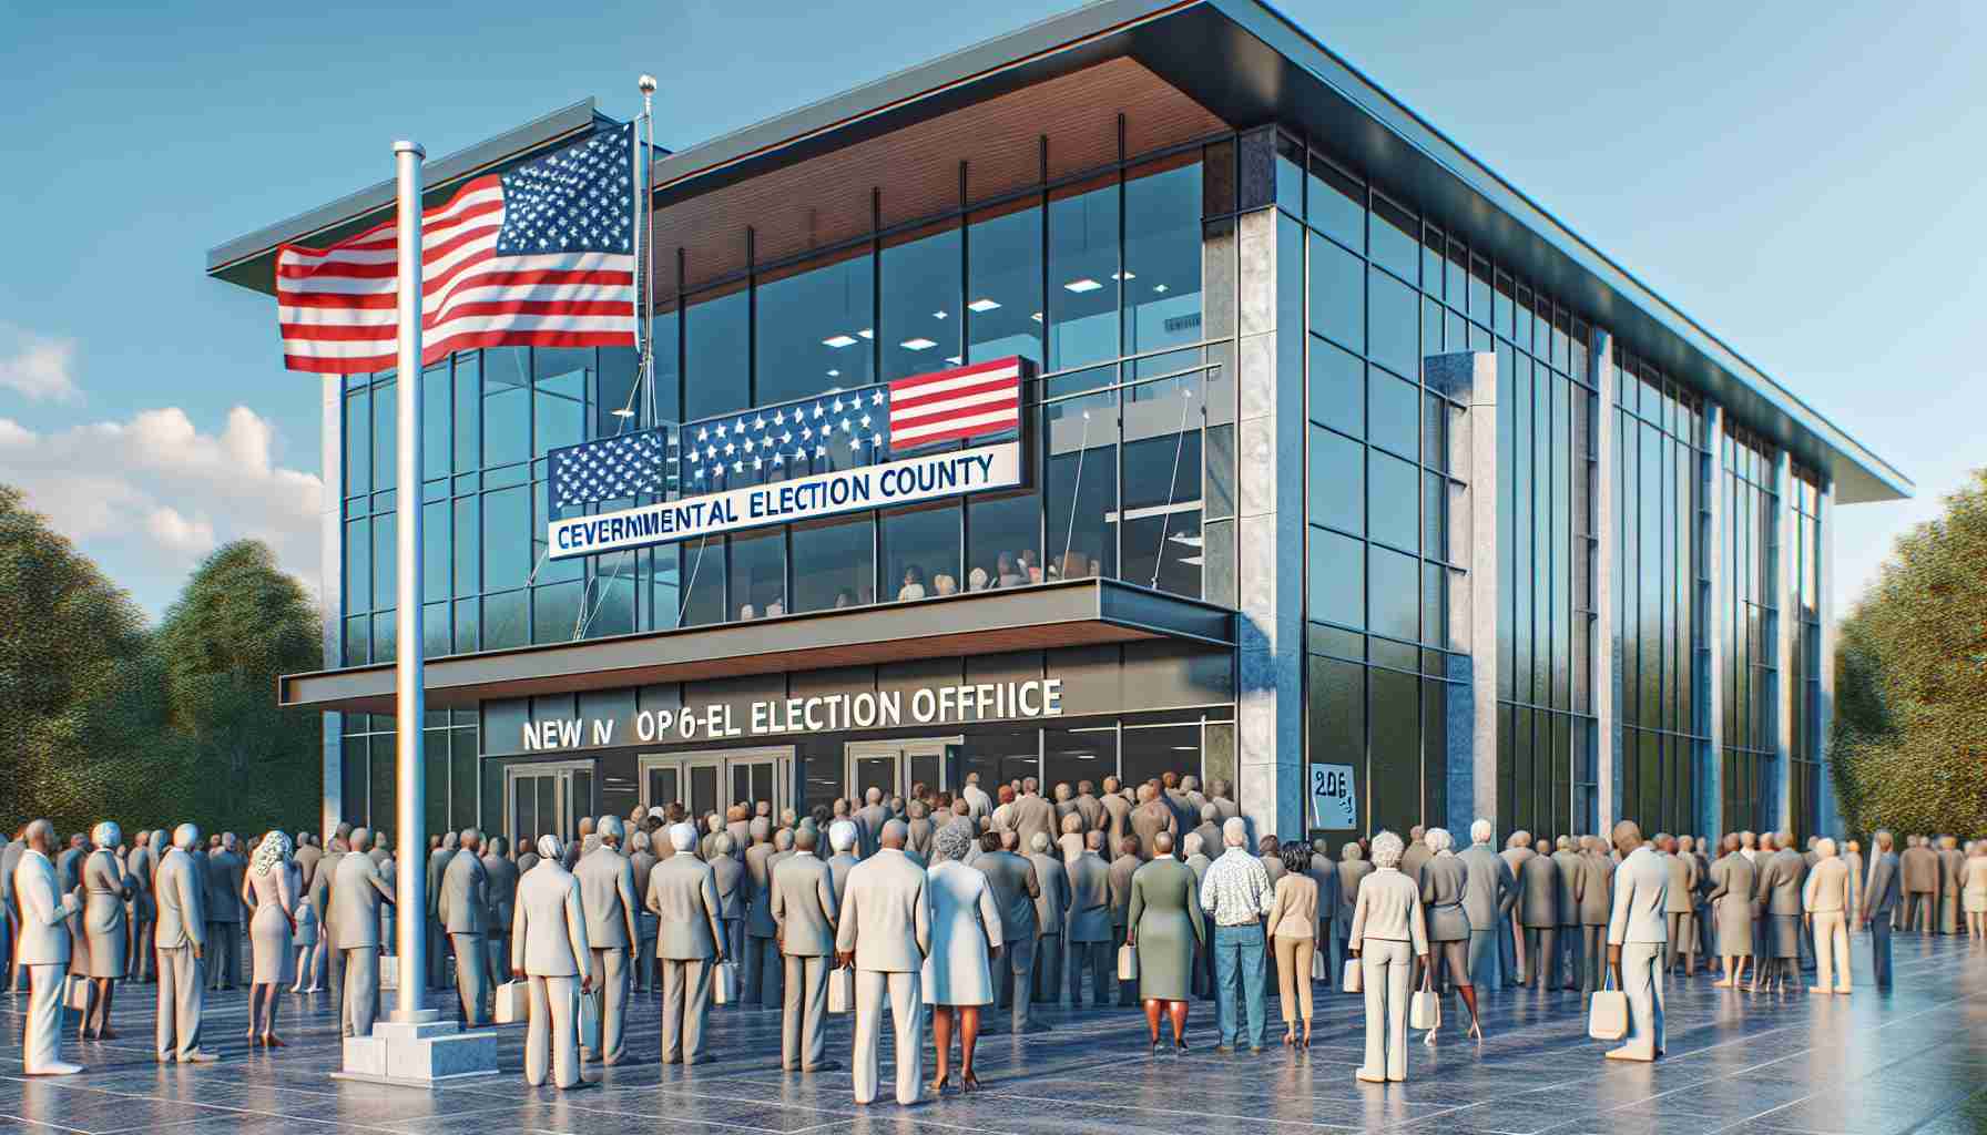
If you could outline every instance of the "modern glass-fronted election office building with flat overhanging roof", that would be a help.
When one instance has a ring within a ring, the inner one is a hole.
[[[652,390],[620,348],[421,374],[431,829],[1166,769],[1280,835],[1830,825],[1832,511],[1910,481],[1272,8],[1105,0],[652,173]],[[207,272],[272,292],[391,197]],[[990,481],[552,547],[846,473],[747,441],[1013,358],[1017,427],[912,447]],[[391,817],[395,380],[322,380],[336,666],[280,698],[328,819]],[[552,515],[622,435],[656,491]]]

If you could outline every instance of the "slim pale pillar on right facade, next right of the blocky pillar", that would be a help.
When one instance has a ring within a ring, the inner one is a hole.
[[[1621,455],[1619,372],[1613,334],[1594,328],[1588,346],[1588,382],[1594,384],[1594,821],[1605,835],[1621,815],[1621,616],[1615,596],[1615,559],[1621,555],[1619,495]]]

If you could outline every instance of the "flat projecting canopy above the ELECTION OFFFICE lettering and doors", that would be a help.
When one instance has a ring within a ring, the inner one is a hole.
[[[425,684],[429,708],[475,708],[495,698],[1154,640],[1232,648],[1236,612],[1119,580],[1079,578],[433,658]],[[278,702],[391,714],[393,664],[290,674],[278,682]]]

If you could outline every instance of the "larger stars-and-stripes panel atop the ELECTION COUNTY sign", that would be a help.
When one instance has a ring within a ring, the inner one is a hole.
[[[1001,358],[686,423],[684,493],[876,465],[906,449],[1017,429],[1023,366]]]

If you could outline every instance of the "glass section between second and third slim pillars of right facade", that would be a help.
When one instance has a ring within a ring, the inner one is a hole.
[[[1772,805],[1780,743],[1780,497],[1770,445],[1737,427],[1721,439],[1725,493],[1723,795],[1725,831],[1762,831]]]

